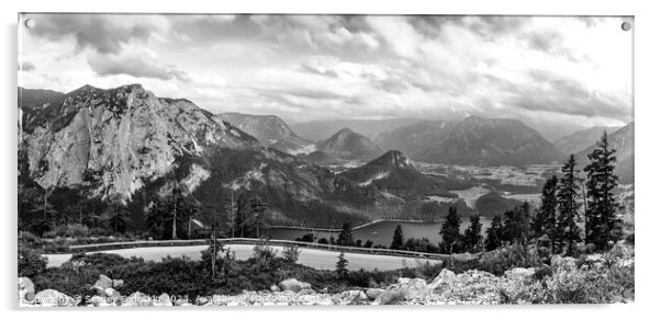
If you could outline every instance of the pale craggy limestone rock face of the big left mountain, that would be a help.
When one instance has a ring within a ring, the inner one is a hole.
[[[80,88],[58,103],[23,112],[27,174],[45,188],[89,185],[130,198],[170,172],[178,157],[212,147],[258,146],[249,135],[188,100],[161,99],[141,85]]]

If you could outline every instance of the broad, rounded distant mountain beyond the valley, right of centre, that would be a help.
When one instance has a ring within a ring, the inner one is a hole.
[[[417,161],[450,164],[524,165],[561,159],[539,133],[515,119],[470,116],[460,122],[423,122],[378,139],[402,146]]]

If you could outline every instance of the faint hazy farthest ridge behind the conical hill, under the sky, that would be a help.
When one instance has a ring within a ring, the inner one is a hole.
[[[343,128],[349,128],[370,139],[378,134],[390,132],[394,128],[410,125],[421,119],[415,118],[392,118],[392,119],[333,119],[333,121],[312,121],[306,123],[292,124],[291,127],[301,137],[310,140],[323,140]]]

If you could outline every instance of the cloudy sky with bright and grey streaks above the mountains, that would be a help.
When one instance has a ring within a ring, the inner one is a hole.
[[[632,121],[623,18],[27,14],[19,84],[142,83],[212,112]]]

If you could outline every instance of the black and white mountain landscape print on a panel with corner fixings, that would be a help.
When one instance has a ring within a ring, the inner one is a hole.
[[[634,301],[631,18],[20,23],[20,306]]]

